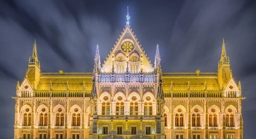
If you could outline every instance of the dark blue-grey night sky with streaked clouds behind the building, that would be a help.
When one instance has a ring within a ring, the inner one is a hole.
[[[14,136],[12,96],[25,77],[35,38],[41,72],[92,72],[96,45],[103,63],[125,28],[127,6],[130,26],[151,63],[159,44],[163,72],[217,72],[224,38],[233,77],[246,97],[244,139],[255,138],[253,0],[1,0],[0,138]]]

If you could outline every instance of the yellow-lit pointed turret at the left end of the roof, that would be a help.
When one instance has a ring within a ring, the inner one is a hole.
[[[32,57],[29,57],[29,68],[26,72],[26,76],[29,79],[31,84],[34,84],[34,89],[37,88],[37,85],[40,80],[40,62],[38,61],[36,40],[33,47]]]

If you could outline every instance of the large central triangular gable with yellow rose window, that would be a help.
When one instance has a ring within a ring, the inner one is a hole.
[[[117,40],[107,60],[104,61],[101,72],[126,72],[127,70],[128,72],[141,72],[141,69],[142,72],[154,71],[151,62],[148,60],[130,26],[126,26]],[[123,65],[122,62],[124,63]]]

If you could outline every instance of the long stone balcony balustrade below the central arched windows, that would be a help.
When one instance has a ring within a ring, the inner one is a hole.
[[[156,119],[156,116],[152,116],[152,115],[100,115],[98,116],[98,119],[124,119],[124,120],[129,120],[129,119],[137,119],[137,120],[154,120]]]

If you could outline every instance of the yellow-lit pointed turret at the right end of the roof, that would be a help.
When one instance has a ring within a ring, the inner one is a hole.
[[[227,57],[226,47],[223,39],[221,60],[218,63],[218,83],[221,89],[223,89],[223,86],[227,85],[227,82],[230,80],[231,76],[230,60],[229,57]]]

